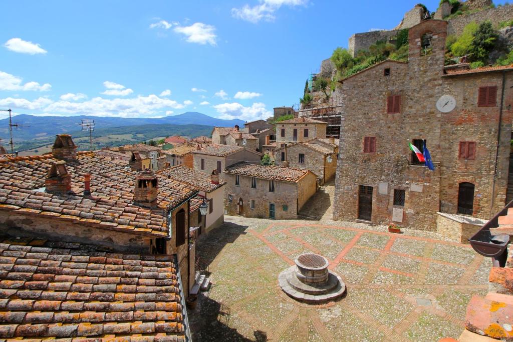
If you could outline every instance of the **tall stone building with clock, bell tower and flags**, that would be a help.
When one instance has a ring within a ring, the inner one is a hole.
[[[513,67],[445,69],[446,36],[447,22],[423,21],[409,29],[407,63],[341,81],[334,219],[436,230],[441,209],[489,218],[504,206]],[[425,143],[434,171],[408,143]]]

